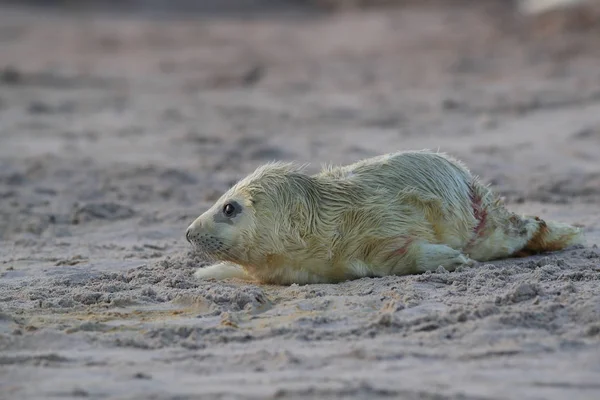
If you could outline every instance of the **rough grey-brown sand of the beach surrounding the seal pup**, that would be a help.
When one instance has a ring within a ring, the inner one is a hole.
[[[0,398],[600,398],[597,31],[540,34],[500,2],[2,7]],[[256,166],[422,148],[588,243],[338,285],[192,279],[186,227]]]

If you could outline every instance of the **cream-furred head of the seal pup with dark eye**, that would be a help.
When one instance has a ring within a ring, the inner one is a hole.
[[[300,221],[310,221],[313,178],[303,165],[273,162],[256,169],[223,194],[187,228],[187,240],[214,261],[252,269],[301,243]]]

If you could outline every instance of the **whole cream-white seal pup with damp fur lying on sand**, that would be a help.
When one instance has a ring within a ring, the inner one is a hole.
[[[382,155],[316,175],[258,168],[188,228],[220,263],[201,279],[333,283],[560,250],[578,228],[508,211],[467,168],[429,151]]]

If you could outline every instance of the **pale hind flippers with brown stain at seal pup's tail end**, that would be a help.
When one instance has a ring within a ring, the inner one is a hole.
[[[538,222],[537,231],[519,252],[527,256],[547,251],[563,250],[569,246],[583,244],[581,228],[556,221],[544,221],[533,217]]]

